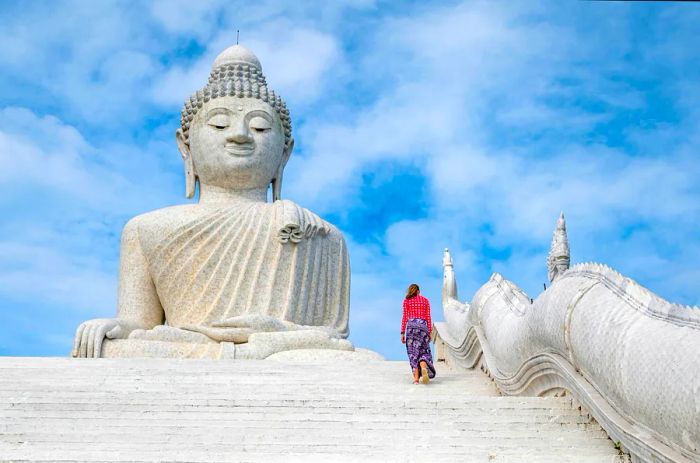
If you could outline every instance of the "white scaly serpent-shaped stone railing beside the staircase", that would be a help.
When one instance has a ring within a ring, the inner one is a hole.
[[[700,310],[599,264],[564,270],[537,299],[495,273],[471,304],[443,260],[437,352],[507,395],[571,394],[642,462],[700,461]]]

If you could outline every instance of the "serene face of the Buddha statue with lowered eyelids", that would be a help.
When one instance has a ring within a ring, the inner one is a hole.
[[[290,154],[279,116],[256,98],[209,100],[192,121],[189,143],[179,132],[178,144],[201,183],[229,190],[267,188]]]

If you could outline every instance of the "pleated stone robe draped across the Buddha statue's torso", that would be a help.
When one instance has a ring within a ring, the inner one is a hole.
[[[198,204],[143,217],[139,242],[168,325],[264,314],[347,337],[345,241],[307,209],[286,200]]]

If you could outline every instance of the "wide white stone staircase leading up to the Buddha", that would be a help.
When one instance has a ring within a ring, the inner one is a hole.
[[[0,358],[0,461],[626,462],[569,398],[407,362]]]

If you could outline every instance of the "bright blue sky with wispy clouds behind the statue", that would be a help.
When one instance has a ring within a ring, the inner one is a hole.
[[[442,318],[498,271],[535,297],[572,261],[700,304],[700,5],[0,2],[0,355],[67,355],[115,313],[126,221],[184,203],[174,133],[241,43],[285,98],[283,196],[335,223],[350,339],[388,358],[405,287]]]

